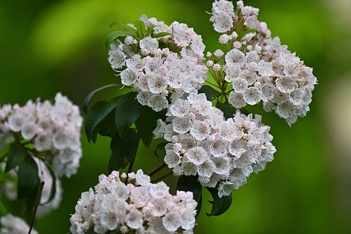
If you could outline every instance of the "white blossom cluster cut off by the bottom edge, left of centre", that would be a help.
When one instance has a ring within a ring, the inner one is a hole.
[[[191,192],[177,191],[170,195],[164,182],[150,183],[150,177],[140,169],[137,173],[113,171],[108,177],[99,176],[95,191],[81,194],[70,218],[72,233],[86,233],[94,226],[95,233],[192,233],[197,202]],[[135,180],[134,180],[135,179]]]

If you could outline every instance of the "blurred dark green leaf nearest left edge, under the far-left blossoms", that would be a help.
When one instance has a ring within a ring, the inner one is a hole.
[[[19,166],[21,162],[26,158],[27,150],[21,144],[12,142],[8,148],[8,160],[6,162],[5,173]]]

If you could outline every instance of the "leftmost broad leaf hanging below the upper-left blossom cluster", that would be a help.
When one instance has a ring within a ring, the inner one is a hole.
[[[111,111],[116,108],[119,99],[123,95],[116,97],[110,101],[99,101],[97,104],[94,104],[92,108],[88,111],[86,116],[86,137],[90,142],[92,139],[93,134],[96,133],[96,126],[108,115]]]

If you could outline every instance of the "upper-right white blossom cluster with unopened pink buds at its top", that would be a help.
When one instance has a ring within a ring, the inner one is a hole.
[[[266,111],[275,110],[289,125],[294,124],[298,116],[305,116],[317,84],[312,68],[287,50],[288,46],[282,46],[279,37],[272,39],[267,24],[257,20],[259,9],[243,6],[243,2],[238,1],[234,12],[231,2],[220,0],[213,3],[212,12],[217,32],[239,27],[239,22],[254,30],[240,40],[236,32],[221,35],[219,41],[232,45],[231,50],[225,55],[217,50],[214,55],[218,60],[207,63],[214,70],[222,69],[225,81],[232,84],[230,104],[241,108],[263,103]],[[225,63],[223,66],[221,61]]]

